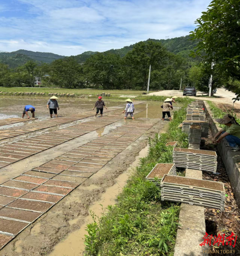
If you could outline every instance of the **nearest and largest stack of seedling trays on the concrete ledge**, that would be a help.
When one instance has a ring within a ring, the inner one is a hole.
[[[162,201],[188,203],[224,211],[225,189],[222,182],[165,174],[160,186]]]

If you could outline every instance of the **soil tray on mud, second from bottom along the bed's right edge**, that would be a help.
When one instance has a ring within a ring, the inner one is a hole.
[[[12,221],[0,218],[0,231],[17,235],[23,228],[27,227],[29,223],[21,221]]]

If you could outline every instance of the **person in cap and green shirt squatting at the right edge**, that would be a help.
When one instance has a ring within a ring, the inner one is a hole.
[[[216,121],[220,124],[224,124],[225,127],[214,136],[213,142],[219,143],[223,138],[225,138],[228,141],[225,145],[232,147],[231,151],[239,151],[240,125],[236,122],[235,118],[232,115],[227,114],[224,115],[223,118],[216,119]]]

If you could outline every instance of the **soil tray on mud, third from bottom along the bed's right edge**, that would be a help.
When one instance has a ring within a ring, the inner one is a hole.
[[[37,213],[34,211],[25,211],[20,209],[13,209],[13,208],[2,208],[0,209],[0,216],[7,217],[7,218],[14,218],[16,220],[21,221],[28,221],[32,222],[35,221],[42,213]]]

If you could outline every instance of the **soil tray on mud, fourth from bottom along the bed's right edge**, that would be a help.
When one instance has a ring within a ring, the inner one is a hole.
[[[14,208],[21,208],[21,209],[27,209],[27,210],[32,210],[32,211],[45,212],[52,205],[53,205],[52,203],[44,203],[44,202],[38,202],[38,201],[28,201],[28,200],[17,199],[13,203],[10,203],[8,205],[8,207],[14,207]]]

